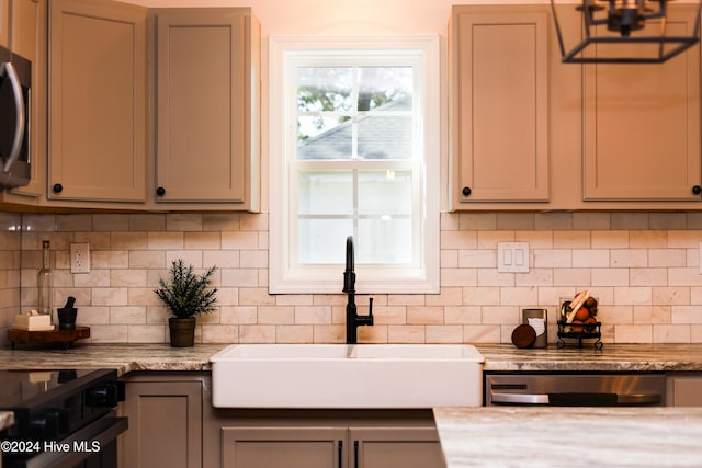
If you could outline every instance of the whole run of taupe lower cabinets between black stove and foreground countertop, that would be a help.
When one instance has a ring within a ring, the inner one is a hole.
[[[123,380],[122,468],[445,467],[429,409],[217,409],[205,372]]]

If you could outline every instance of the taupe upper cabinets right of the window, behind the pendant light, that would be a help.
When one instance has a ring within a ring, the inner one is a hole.
[[[573,46],[582,18],[557,8]],[[690,34],[693,9],[669,9],[670,34]],[[547,5],[453,8],[451,209],[698,209],[700,46],[661,65],[562,64],[553,23]]]

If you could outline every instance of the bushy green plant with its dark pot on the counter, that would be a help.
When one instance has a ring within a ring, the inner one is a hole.
[[[171,346],[192,346],[195,341],[195,317],[214,312],[217,301],[217,288],[212,287],[212,275],[216,266],[202,275],[194,272],[193,265],[174,260],[170,267],[168,282],[160,278],[154,293],[166,305],[172,317],[168,319]]]

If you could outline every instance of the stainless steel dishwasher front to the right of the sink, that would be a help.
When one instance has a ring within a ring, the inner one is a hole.
[[[663,407],[663,373],[486,373],[486,406]]]

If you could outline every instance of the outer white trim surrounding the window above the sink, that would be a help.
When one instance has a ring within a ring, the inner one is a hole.
[[[293,271],[287,259],[286,194],[290,185],[281,158],[285,158],[286,115],[281,109],[286,77],[286,54],[295,50],[421,50],[424,60],[424,164],[426,186],[423,220],[422,274],[395,275],[393,278],[374,277],[372,265],[355,265],[356,290],[373,294],[434,294],[439,293],[439,236],[440,236],[440,155],[441,155],[441,99],[440,99],[440,39],[439,36],[401,37],[287,37],[269,39],[269,155],[270,155],[270,231],[269,231],[269,292],[271,294],[340,294],[343,287],[343,265],[338,277],[312,277]],[[284,162],[284,161],[283,161]],[[344,239],[339,240],[339,249]],[[313,271],[314,267],[306,269]],[[319,275],[318,275],[319,276]]]

